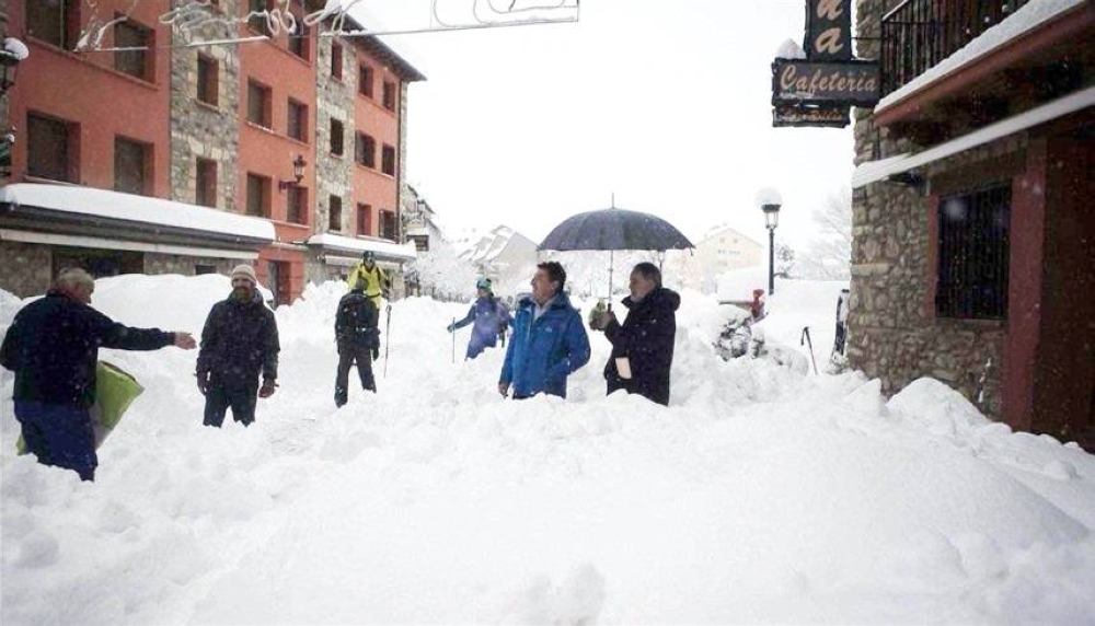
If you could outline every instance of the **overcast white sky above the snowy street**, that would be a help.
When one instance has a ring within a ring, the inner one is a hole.
[[[429,0],[361,4],[387,28],[428,25]],[[770,65],[804,15],[805,0],[584,0],[575,24],[389,37],[428,77],[407,177],[447,224],[535,241],[612,193],[690,237],[729,222],[766,239],[753,197],[773,186],[776,236],[804,244],[853,169],[850,128],[772,128]]]

